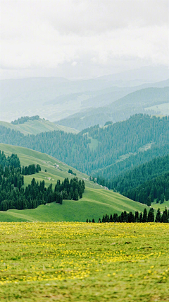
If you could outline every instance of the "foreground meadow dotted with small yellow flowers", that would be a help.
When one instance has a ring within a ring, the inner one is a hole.
[[[168,223],[0,223],[1,301],[168,301]]]

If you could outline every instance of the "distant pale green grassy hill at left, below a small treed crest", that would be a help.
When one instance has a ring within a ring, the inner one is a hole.
[[[78,133],[78,130],[71,129],[69,127],[61,126],[58,124],[54,124],[53,122],[49,122],[46,120],[33,120],[25,122],[24,124],[11,124],[9,122],[0,122],[1,126],[6,128],[18,130],[23,134],[39,134],[41,132],[49,132],[54,130],[61,130],[67,133]]]

